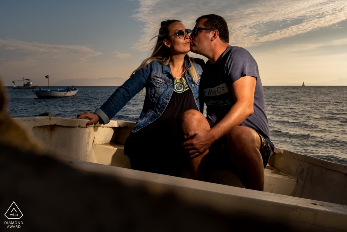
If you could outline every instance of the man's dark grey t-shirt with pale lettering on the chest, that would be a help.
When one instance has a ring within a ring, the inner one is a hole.
[[[215,64],[207,61],[201,76],[200,89],[203,90],[207,105],[207,120],[216,125],[235,104],[232,84],[244,76],[257,79],[254,93],[254,112],[241,125],[259,132],[273,148],[265,110],[263,86],[258,65],[252,55],[244,48],[229,46]]]

